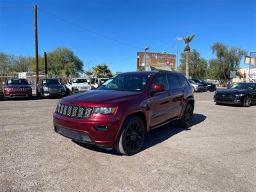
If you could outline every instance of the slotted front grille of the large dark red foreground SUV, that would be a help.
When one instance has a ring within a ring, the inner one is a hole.
[[[63,116],[71,116],[74,118],[90,118],[93,108],[72,106],[66,104],[58,104],[57,113]]]

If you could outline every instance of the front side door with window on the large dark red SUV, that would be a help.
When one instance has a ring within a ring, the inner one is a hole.
[[[160,74],[158,77],[156,77],[151,89],[154,88],[154,84],[163,84],[164,92],[154,93],[154,95],[150,98],[150,103],[148,104],[151,111],[150,126],[161,124],[170,118],[168,111],[170,109],[171,102],[168,95],[166,74]]]

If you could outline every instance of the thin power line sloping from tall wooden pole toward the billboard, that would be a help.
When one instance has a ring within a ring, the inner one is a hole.
[[[48,15],[51,15],[52,17],[56,17],[56,18],[58,18],[58,19],[60,19],[60,20],[63,20],[63,21],[65,21],[65,22],[67,22],[68,24],[71,24],[71,25],[73,25],[73,26],[76,26],[77,28],[81,28],[81,29],[83,29],[83,30],[85,30],[85,31],[88,31],[88,32],[90,32],[90,33],[94,33],[94,34],[99,35],[99,36],[102,36],[102,37],[104,37],[104,38],[108,38],[109,40],[113,40],[113,41],[118,42],[118,43],[120,43],[120,44],[128,45],[128,46],[134,47],[134,48],[136,48],[136,49],[143,49],[143,48],[141,48],[141,47],[137,47],[136,45],[132,45],[132,44],[129,44],[129,43],[127,43],[127,42],[122,42],[122,41],[117,40],[117,39],[115,39],[115,38],[112,38],[112,37],[110,37],[110,36],[103,35],[102,33],[99,33],[99,32],[97,32],[97,31],[93,31],[93,30],[91,30],[91,29],[84,28],[83,26],[80,26],[80,25],[78,25],[78,24],[76,24],[76,23],[74,23],[74,22],[71,22],[71,21],[67,20],[67,19],[63,19],[62,17],[60,17],[60,16],[58,16],[58,15],[55,15],[55,14],[53,14],[53,13],[47,12],[47,11],[45,11],[45,10],[42,10],[41,8],[38,8],[38,10],[40,10],[41,12],[47,13]]]

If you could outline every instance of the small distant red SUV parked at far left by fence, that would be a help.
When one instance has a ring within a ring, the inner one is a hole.
[[[4,100],[17,97],[32,97],[31,84],[26,79],[8,79],[4,84]]]

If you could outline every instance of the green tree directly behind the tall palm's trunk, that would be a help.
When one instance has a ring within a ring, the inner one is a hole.
[[[185,52],[180,54],[180,72],[186,74]],[[195,49],[189,53],[189,75],[195,79],[205,79],[207,75],[207,61]]]

